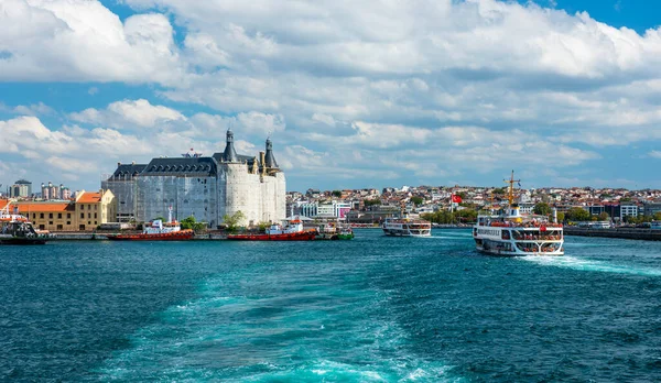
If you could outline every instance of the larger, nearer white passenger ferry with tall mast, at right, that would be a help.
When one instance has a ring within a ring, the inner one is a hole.
[[[503,256],[564,255],[564,234],[557,223],[546,216],[521,215],[513,203],[513,172],[509,180],[509,206],[499,214],[479,215],[473,228],[478,251]]]

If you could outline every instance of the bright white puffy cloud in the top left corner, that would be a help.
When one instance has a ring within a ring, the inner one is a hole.
[[[163,14],[122,23],[96,0],[0,2],[0,79],[174,84],[183,67]]]

